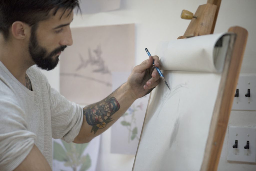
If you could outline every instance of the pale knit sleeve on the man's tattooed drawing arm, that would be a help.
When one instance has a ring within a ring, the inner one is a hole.
[[[47,85],[50,100],[52,137],[66,142],[74,141],[83,122],[83,109],[71,103],[57,90]]]

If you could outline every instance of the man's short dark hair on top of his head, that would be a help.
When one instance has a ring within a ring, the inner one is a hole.
[[[75,7],[77,12],[81,12],[79,0],[0,0],[0,32],[4,35],[4,39],[8,40],[9,28],[15,21],[32,26],[48,19],[51,9],[54,9],[53,15],[56,15],[60,8],[64,9],[64,14],[66,10]],[[72,10],[68,15],[71,12]]]

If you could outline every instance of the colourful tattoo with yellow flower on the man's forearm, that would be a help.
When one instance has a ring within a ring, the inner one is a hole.
[[[120,109],[120,104],[114,97],[109,95],[106,99],[83,108],[83,114],[89,125],[92,125],[91,132],[94,134],[98,129],[106,127],[106,124],[113,121],[112,115]]]

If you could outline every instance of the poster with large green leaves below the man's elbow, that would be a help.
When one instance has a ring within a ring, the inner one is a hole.
[[[100,136],[89,143],[66,143],[60,139],[53,142],[53,171],[94,171],[98,164]]]

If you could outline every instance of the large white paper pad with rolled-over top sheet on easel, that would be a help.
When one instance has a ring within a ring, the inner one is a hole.
[[[160,82],[151,93],[134,171],[200,170],[230,47],[229,35],[216,47],[223,35],[159,46],[156,54],[171,90]]]

